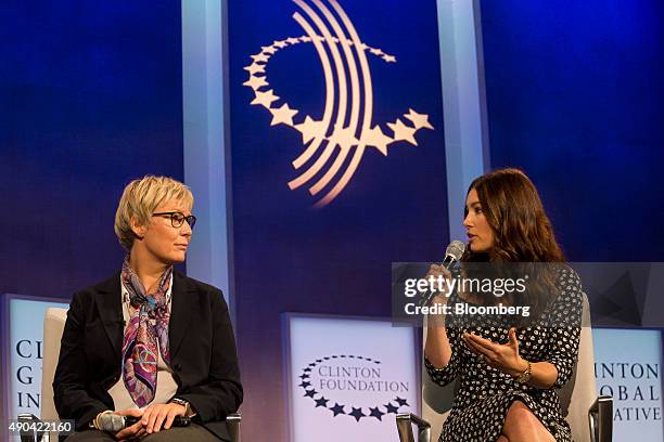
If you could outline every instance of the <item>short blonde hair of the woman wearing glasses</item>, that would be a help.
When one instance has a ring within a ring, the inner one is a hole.
[[[165,202],[182,202],[191,209],[193,195],[181,182],[169,177],[145,176],[133,180],[125,187],[115,212],[115,235],[126,250],[131,250],[136,234],[131,219],[139,225],[148,225],[154,210]]]

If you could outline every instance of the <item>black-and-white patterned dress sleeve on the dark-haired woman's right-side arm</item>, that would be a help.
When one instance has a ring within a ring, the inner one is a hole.
[[[583,314],[582,284],[576,272],[563,270],[559,289],[559,297],[549,312],[549,350],[546,359],[558,370],[558,378],[552,386],[556,389],[561,389],[570,379],[578,359]]]

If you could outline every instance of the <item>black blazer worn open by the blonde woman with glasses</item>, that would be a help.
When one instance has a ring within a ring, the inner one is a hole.
[[[88,428],[98,413],[114,410],[107,390],[120,379],[124,321],[120,275],[74,295],[53,379],[61,419]],[[192,420],[228,440],[224,419],[242,403],[235,341],[221,290],[174,271],[170,367],[176,398],[196,411]]]

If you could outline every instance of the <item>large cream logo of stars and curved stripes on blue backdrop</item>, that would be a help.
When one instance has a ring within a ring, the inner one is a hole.
[[[299,37],[274,40],[251,55],[244,67],[248,79],[243,83],[254,92],[251,104],[270,112],[270,126],[284,125],[302,134],[299,155],[292,161],[298,176],[288,185],[291,190],[308,187],[323,207],[336,198],[353,179],[367,151],[374,148],[387,156],[387,146],[418,145],[416,133],[431,129],[426,114],[412,108],[394,121],[373,121],[373,88],[368,55],[385,63],[397,63],[395,55],[365,43],[335,0],[294,0],[301,12],[293,18],[304,29]],[[301,115],[293,103],[274,94],[267,76],[272,56],[282,49],[302,43],[314,47],[322,66],[325,82],[324,107],[320,119]],[[359,416],[359,415],[358,415]]]

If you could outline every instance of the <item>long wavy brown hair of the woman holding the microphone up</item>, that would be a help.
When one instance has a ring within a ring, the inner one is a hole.
[[[476,178],[468,193],[473,188],[494,232],[494,245],[483,253],[468,248],[462,260],[521,263],[519,272],[527,272],[534,277],[529,278],[525,294],[513,295],[506,301],[529,304],[534,320],[558,295],[556,269],[559,265],[550,264],[565,261],[537,188],[524,172],[512,168]],[[464,216],[468,216],[468,208]]]

